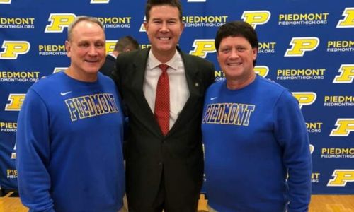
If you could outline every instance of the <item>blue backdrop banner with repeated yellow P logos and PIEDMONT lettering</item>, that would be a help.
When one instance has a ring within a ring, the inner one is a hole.
[[[149,47],[144,0],[0,0],[0,186],[16,189],[16,126],[28,88],[69,66],[67,26],[76,16],[99,18],[107,52],[132,35]],[[214,38],[227,21],[258,33],[255,71],[290,88],[309,131],[314,194],[354,194],[353,0],[182,0],[180,47],[215,63]],[[55,86],[55,85],[53,85]],[[262,173],[259,173],[262,175]],[[267,179],[264,179],[267,180]]]

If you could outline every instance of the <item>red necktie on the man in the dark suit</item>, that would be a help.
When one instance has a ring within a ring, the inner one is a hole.
[[[162,73],[156,87],[155,118],[159,123],[162,134],[166,136],[170,129],[170,84],[166,64],[159,64]]]

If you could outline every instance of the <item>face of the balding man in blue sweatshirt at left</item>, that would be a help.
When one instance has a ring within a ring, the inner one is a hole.
[[[105,61],[105,33],[96,23],[81,21],[72,29],[71,40],[65,42],[67,56],[77,79],[96,78]]]

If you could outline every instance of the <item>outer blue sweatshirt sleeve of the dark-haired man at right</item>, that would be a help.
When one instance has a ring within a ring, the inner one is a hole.
[[[275,136],[282,147],[288,174],[288,211],[308,211],[312,175],[309,136],[298,102],[287,90],[275,106]]]

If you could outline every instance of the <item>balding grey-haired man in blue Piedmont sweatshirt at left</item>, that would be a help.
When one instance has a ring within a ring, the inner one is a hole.
[[[30,211],[122,211],[123,114],[114,82],[98,73],[102,23],[78,16],[65,47],[69,68],[33,84],[18,116],[21,201]]]

